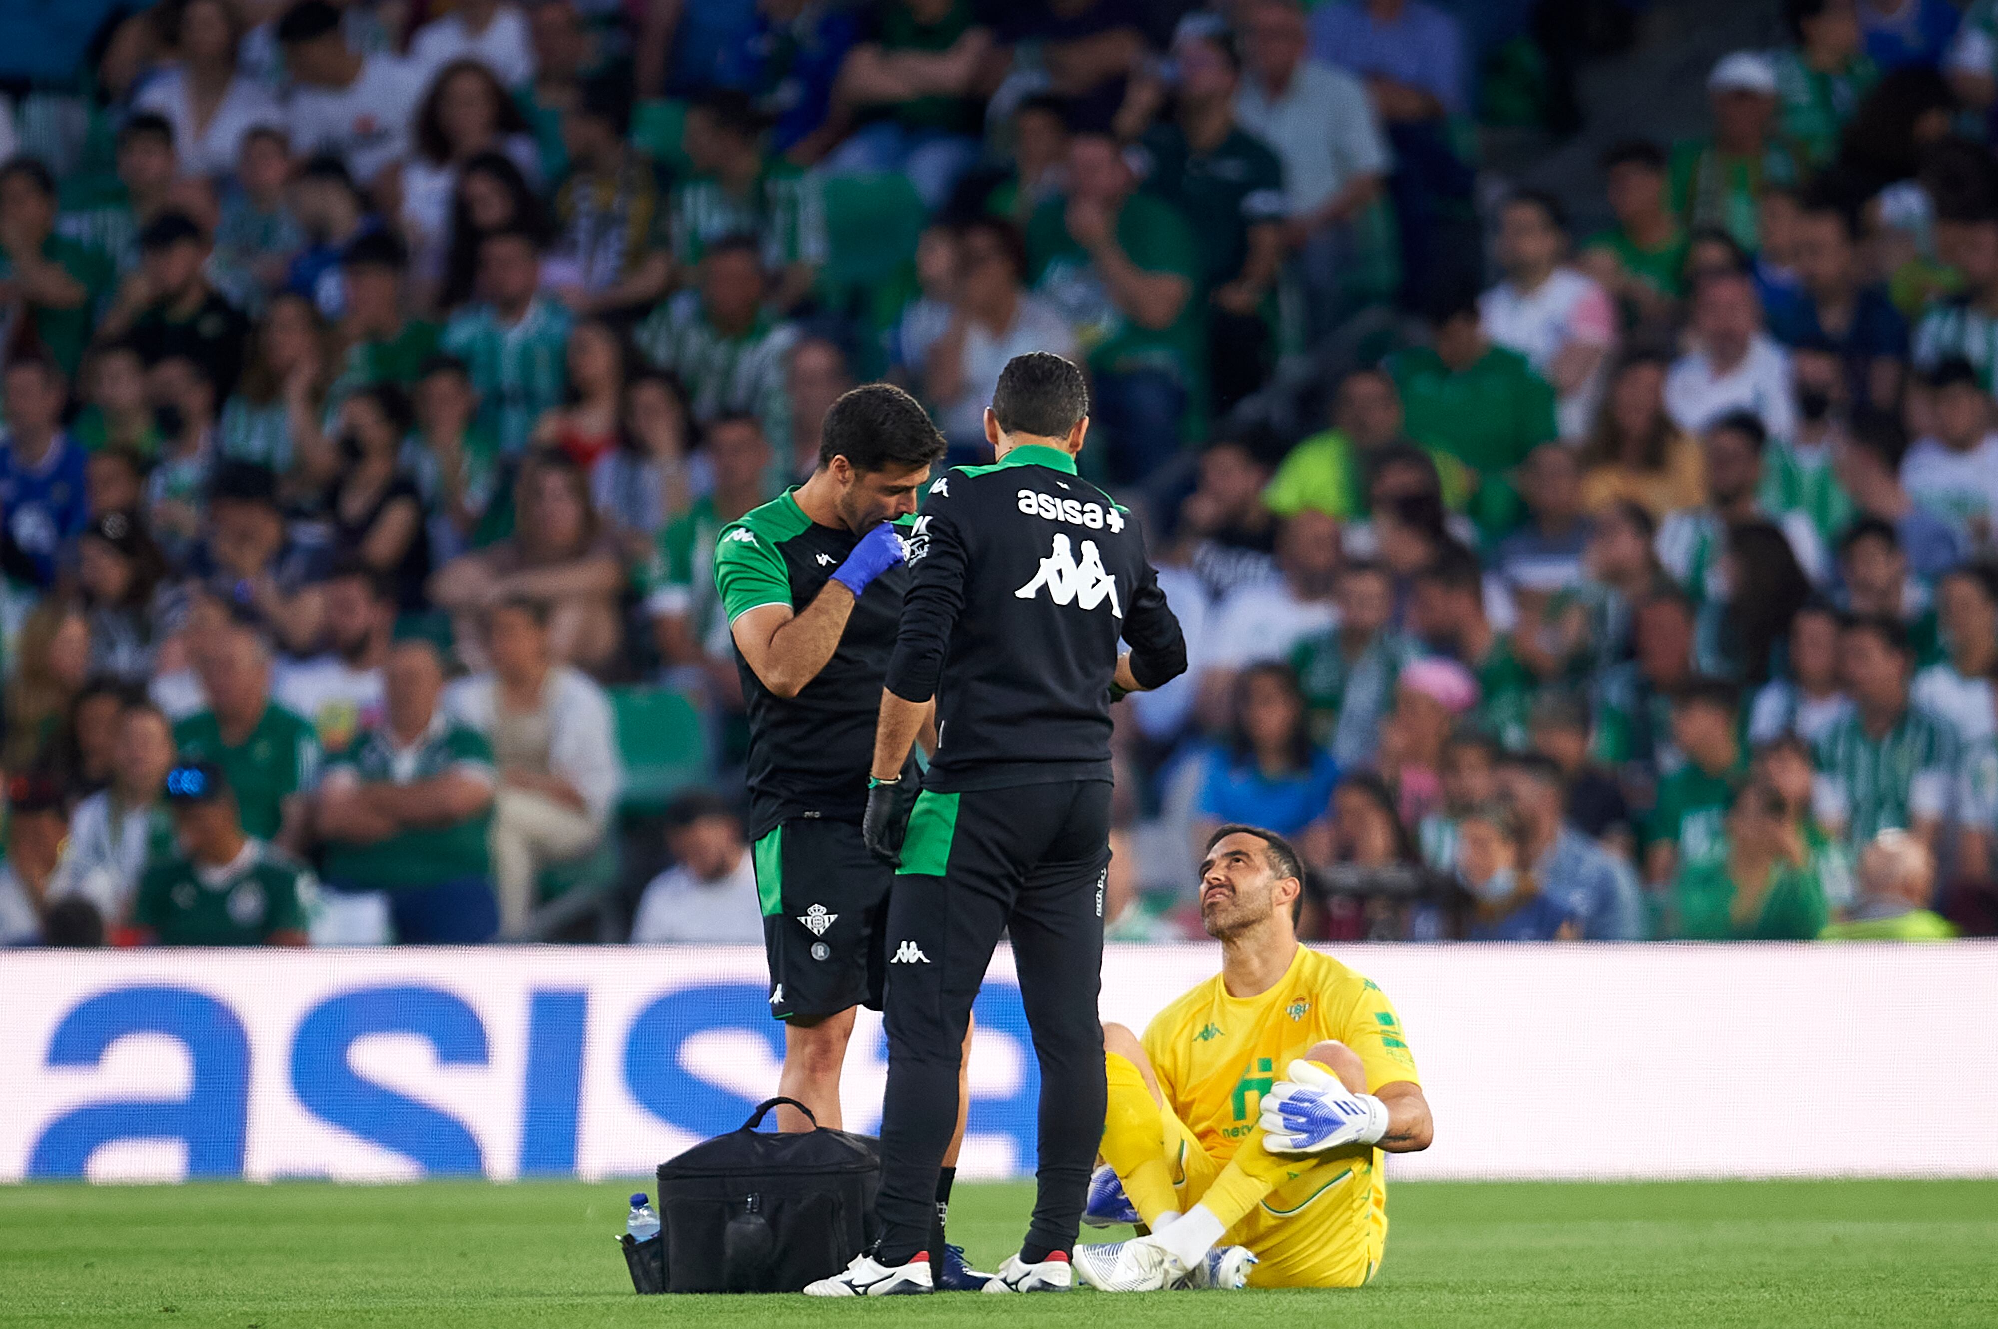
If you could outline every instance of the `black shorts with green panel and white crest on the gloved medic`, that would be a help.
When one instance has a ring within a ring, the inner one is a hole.
[[[861,828],[793,816],[755,842],[755,894],[769,958],[769,1014],[823,1020],[881,1010],[887,892],[895,870]]]

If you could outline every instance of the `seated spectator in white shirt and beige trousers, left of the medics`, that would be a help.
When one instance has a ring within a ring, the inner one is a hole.
[[[486,615],[492,672],[452,684],[446,712],[494,746],[494,890],[500,932],[519,936],[541,870],[597,848],[623,784],[603,688],[555,664],[547,609],[509,599]]]

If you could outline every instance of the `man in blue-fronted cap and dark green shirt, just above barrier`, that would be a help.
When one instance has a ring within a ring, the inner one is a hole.
[[[304,946],[312,874],[244,832],[216,762],[166,772],[176,850],[140,878],[132,924],[160,946]]]

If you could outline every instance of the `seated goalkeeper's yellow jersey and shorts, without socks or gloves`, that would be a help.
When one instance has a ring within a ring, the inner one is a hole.
[[[1369,1092],[1397,1080],[1421,1084],[1387,994],[1371,978],[1305,946],[1261,996],[1229,996],[1219,974],[1187,992],[1147,1026],[1145,1056],[1185,1129],[1209,1157],[1227,1163],[1259,1129],[1271,1084],[1283,1080],[1295,1058],[1329,1040],[1361,1058]],[[1263,1257],[1265,1267],[1257,1273],[1285,1281],[1285,1269],[1323,1271],[1341,1259],[1363,1261],[1371,1271],[1387,1237],[1381,1151],[1355,1149],[1339,1159],[1329,1179],[1321,1169],[1291,1175],[1231,1229],[1231,1241]]]

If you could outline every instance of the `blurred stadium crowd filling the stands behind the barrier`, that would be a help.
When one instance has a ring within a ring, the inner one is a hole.
[[[1998,6],[1770,0],[1578,233],[1479,130],[1642,8],[0,14],[0,942],[761,940],[717,533],[1023,351],[1193,655],[1111,936],[1223,822],[1311,938],[1998,930]]]

